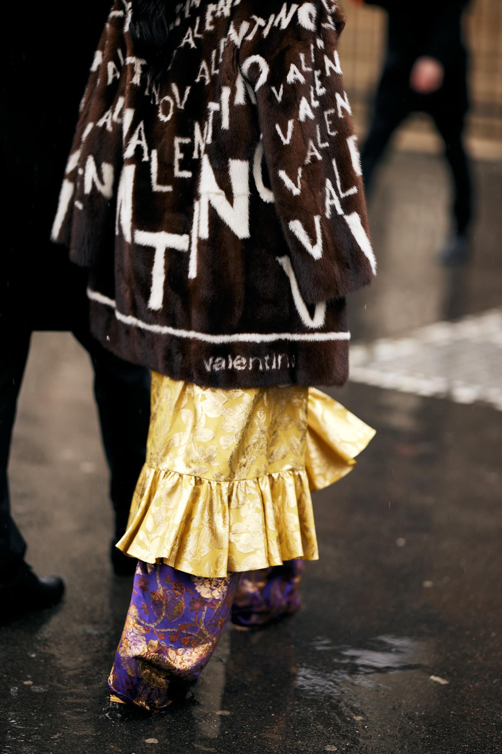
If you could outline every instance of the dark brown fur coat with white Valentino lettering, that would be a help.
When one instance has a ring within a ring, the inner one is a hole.
[[[173,379],[342,385],[345,296],[375,274],[333,0],[186,0],[151,81],[116,0],[53,238],[93,332]]]

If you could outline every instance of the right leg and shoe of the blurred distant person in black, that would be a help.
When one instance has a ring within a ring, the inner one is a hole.
[[[444,247],[441,257],[445,263],[468,259],[469,230],[473,218],[473,189],[469,158],[464,148],[464,115],[455,111],[433,114],[437,129],[445,143],[445,156],[452,173],[454,200],[452,213],[455,232]]]

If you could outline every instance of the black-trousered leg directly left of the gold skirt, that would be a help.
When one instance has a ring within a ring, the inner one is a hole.
[[[75,337],[90,354],[103,445],[110,467],[110,497],[115,513],[111,560],[118,575],[135,572],[135,560],[114,546],[126,531],[129,507],[146,457],[150,423],[150,375],[108,351],[85,330]]]

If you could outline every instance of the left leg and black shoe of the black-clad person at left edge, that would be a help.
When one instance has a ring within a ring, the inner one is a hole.
[[[0,333],[0,618],[7,611],[38,609],[59,602],[64,585],[59,578],[37,578],[24,561],[26,542],[11,516],[8,461],[17,397],[28,358],[29,329]]]

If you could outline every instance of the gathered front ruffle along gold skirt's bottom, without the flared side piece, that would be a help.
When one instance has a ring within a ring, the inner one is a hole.
[[[215,482],[143,468],[120,550],[206,578],[318,559],[306,471]]]

